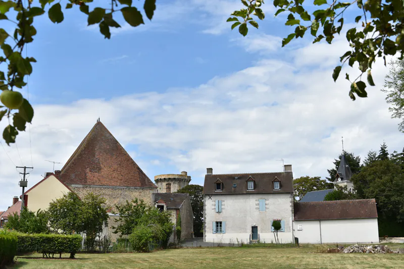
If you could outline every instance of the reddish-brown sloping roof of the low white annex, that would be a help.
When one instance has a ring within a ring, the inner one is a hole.
[[[375,199],[304,202],[294,205],[294,220],[377,218]]]

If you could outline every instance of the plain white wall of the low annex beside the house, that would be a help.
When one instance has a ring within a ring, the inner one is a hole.
[[[302,230],[298,231],[298,225]],[[294,235],[299,243],[320,243],[319,221],[295,221]],[[322,220],[322,243],[379,243],[377,219]]]

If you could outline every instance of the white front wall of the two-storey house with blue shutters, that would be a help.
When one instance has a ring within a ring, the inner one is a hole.
[[[285,232],[279,232],[279,241],[290,243],[292,236],[292,212],[290,193],[275,194],[223,194],[205,196],[205,233],[206,242],[229,243],[249,240],[251,227],[258,227],[260,241],[270,243],[274,240],[271,232],[271,221],[280,219],[285,221]],[[266,210],[260,212],[259,199],[266,199]],[[222,200],[222,212],[216,212],[216,200]],[[226,233],[214,234],[213,222],[226,222]]]

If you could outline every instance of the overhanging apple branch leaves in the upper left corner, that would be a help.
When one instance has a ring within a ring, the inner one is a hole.
[[[8,20],[16,24],[14,32],[7,32],[4,28],[0,28],[0,48],[4,53],[4,57],[0,57],[0,66],[6,64],[8,70],[7,73],[0,71],[1,91],[15,91],[27,85],[25,77],[32,73],[32,63],[35,63],[36,60],[32,57],[23,57],[22,52],[26,44],[34,40],[37,33],[33,26],[34,20],[46,14],[46,7],[49,7],[47,16],[53,23],[61,23],[65,18],[61,3],[53,2],[54,0],[40,0],[37,3],[40,5],[34,6],[36,2],[33,1],[0,1],[0,20]],[[132,0],[111,0],[109,7],[95,7],[90,11],[88,4],[92,2],[93,0],[69,0],[65,9],[77,7],[83,14],[87,15],[88,25],[98,24],[99,31],[105,38],[111,37],[111,27],[121,27],[114,20],[114,15],[117,13],[122,14],[125,21],[133,27],[144,24],[141,13],[132,6]],[[156,10],[156,0],[144,0],[143,10],[146,17],[151,20]],[[10,95],[7,98],[14,99]],[[5,102],[3,102],[5,105],[9,103]],[[28,99],[24,98],[23,103],[17,108],[10,105],[9,107],[0,105],[0,121],[5,116],[13,118],[13,122],[3,131],[3,139],[10,145],[10,143],[15,143],[18,131],[24,131],[26,124],[32,122],[34,110]]]

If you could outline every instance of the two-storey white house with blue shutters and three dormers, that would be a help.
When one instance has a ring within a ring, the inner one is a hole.
[[[204,184],[204,241],[229,243],[274,241],[272,222],[279,220],[279,241],[293,242],[292,166],[284,172],[213,174]]]

